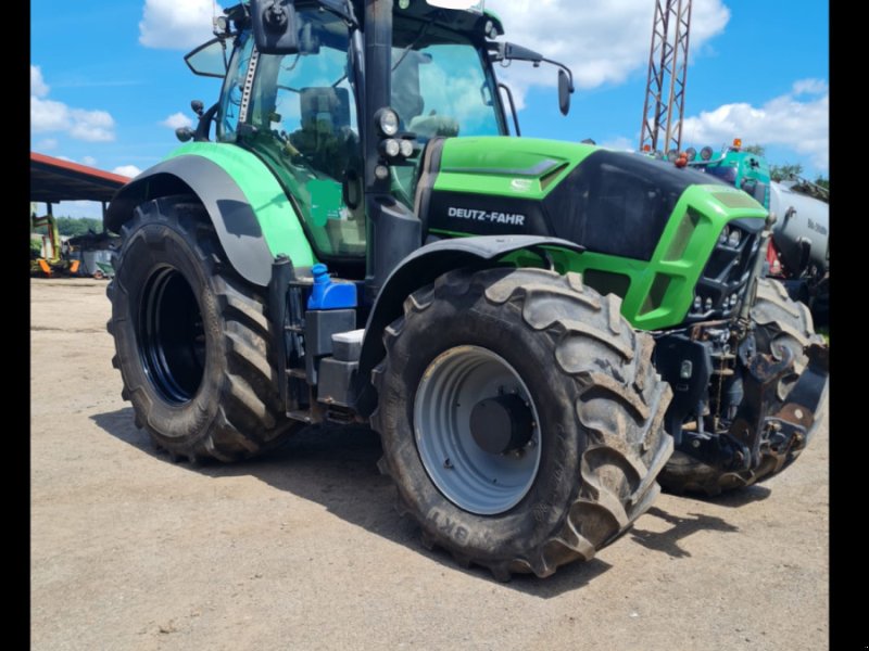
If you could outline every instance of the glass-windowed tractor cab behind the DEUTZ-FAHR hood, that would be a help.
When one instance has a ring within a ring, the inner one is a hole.
[[[214,120],[218,143],[255,153],[292,197],[317,258],[347,278],[365,277],[371,248],[366,186],[370,191],[378,184],[406,222],[417,204],[424,163],[431,162],[425,155],[430,141],[509,136],[493,62],[545,61],[530,50],[493,43],[503,27],[481,2],[450,9],[461,3],[401,1],[392,9],[389,56],[380,53],[389,68],[380,79],[365,74],[361,2],[254,4],[227,10],[216,37],[187,55],[196,74],[225,81],[219,102],[202,113],[204,127],[197,133],[180,129],[178,136],[206,140]],[[257,8],[266,4],[287,17],[280,38],[278,28],[255,20]],[[569,95],[571,78],[562,76],[563,94]],[[366,130],[361,119],[366,92],[385,90],[389,101],[376,111],[367,107],[380,114],[369,116],[375,125]],[[566,111],[569,102],[562,98],[562,103]],[[404,253],[424,237],[405,238]],[[390,264],[380,267],[374,276],[386,273]]]

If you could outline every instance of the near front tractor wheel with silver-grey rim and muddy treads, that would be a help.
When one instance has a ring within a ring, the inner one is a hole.
[[[407,298],[371,424],[427,546],[549,576],[648,509],[671,394],[620,306],[541,269],[451,271]]]

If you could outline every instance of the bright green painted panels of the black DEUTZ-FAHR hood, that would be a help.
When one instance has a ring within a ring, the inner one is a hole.
[[[540,201],[596,149],[530,138],[453,138],[444,142],[434,189],[492,195],[493,205],[501,196]],[[677,202],[648,261],[593,252],[559,252],[553,261],[562,273],[595,270],[625,277],[625,318],[641,330],[672,328],[691,309],[694,288],[725,225],[765,217],[764,207],[736,188],[691,186]],[[431,232],[451,238],[468,234]],[[539,256],[530,253],[515,254],[508,261],[540,265]]]

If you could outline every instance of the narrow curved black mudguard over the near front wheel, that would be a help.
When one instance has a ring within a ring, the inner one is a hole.
[[[484,267],[499,258],[519,251],[556,248],[570,254],[581,254],[584,247],[558,238],[539,235],[481,235],[455,238],[427,244],[408,255],[393,269],[383,289],[377,296],[368,322],[360,355],[356,409],[370,416],[377,406],[377,394],[370,384],[370,374],[386,355],[383,330],[402,315],[404,299],[416,290],[459,267]]]

